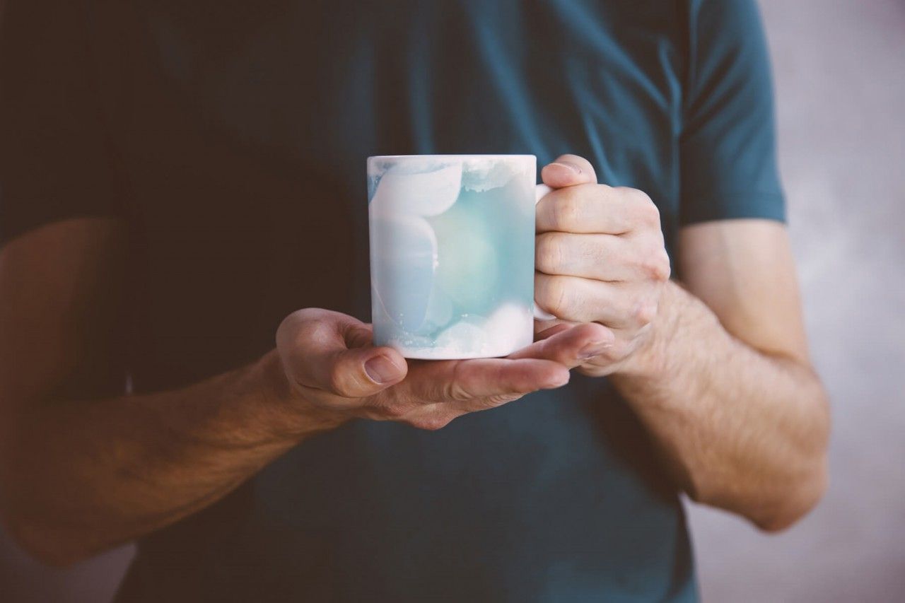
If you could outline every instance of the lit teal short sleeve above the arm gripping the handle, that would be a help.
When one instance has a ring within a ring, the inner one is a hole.
[[[680,222],[786,219],[767,44],[754,0],[691,2]]]

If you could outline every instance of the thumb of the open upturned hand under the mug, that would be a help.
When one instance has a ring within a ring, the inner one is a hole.
[[[371,327],[339,312],[308,309],[277,331],[277,349],[290,380],[340,397],[368,397],[395,385],[408,370],[392,348],[370,345]]]

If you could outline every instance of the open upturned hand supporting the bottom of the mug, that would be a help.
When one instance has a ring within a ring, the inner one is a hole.
[[[565,385],[572,369],[612,343],[590,323],[559,325],[505,359],[406,360],[375,348],[371,325],[308,308],[277,330],[277,351],[291,397],[342,423],[392,420],[439,429],[466,413],[499,407],[538,389]]]

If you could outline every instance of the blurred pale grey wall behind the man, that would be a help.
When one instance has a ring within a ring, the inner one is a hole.
[[[905,601],[905,1],[760,4],[832,483],[780,535],[691,508],[703,598]],[[130,556],[46,570],[0,533],[0,601],[108,601]]]

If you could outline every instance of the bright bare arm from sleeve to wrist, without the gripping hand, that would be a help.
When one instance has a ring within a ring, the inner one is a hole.
[[[805,344],[788,237],[756,220],[681,234],[651,337],[614,383],[691,499],[782,530],[827,482],[830,418]]]

